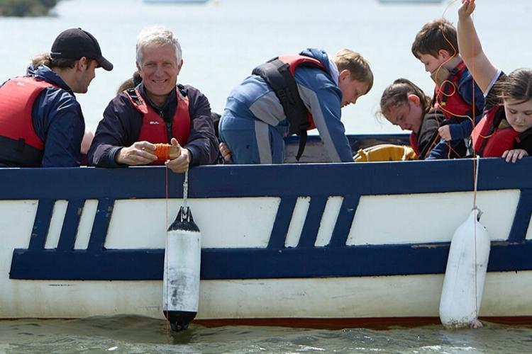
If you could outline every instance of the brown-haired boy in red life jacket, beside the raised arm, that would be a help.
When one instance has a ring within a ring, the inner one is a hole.
[[[436,82],[433,105],[446,118],[438,128],[441,141],[432,149],[428,159],[450,158],[450,152],[462,140],[469,140],[473,116],[475,120],[482,117],[482,91],[475,84],[473,93],[472,76],[458,51],[456,28],[444,18],[423,25],[411,50]],[[465,153],[459,157],[463,156]]]

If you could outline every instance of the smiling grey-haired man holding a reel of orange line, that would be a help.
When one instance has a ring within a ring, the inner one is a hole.
[[[136,49],[142,82],[107,106],[89,150],[89,163],[99,167],[165,163],[177,173],[189,166],[214,164],[218,140],[211,107],[198,89],[177,84],[183,59],[174,33],[160,26],[145,28]],[[184,148],[178,156],[157,162],[158,143]]]

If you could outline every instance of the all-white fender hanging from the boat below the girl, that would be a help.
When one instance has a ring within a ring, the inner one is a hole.
[[[477,215],[479,210],[472,210],[465,222],[456,229],[450,243],[440,298],[440,320],[446,328],[470,326],[477,320],[482,302],[489,236],[486,228],[478,222],[480,217]]]

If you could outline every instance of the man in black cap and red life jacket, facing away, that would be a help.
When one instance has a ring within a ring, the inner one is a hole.
[[[0,166],[79,166],[85,131],[74,93],[86,93],[95,69],[113,64],[96,38],[71,28],[55,39],[49,55],[0,87]]]

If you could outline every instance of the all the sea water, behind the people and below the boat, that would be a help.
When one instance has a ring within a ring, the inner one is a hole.
[[[184,57],[178,81],[203,91],[218,113],[232,87],[257,64],[305,47],[331,54],[348,47],[369,60],[375,84],[356,105],[343,109],[346,131],[398,132],[375,119],[380,95],[398,77],[411,79],[431,94],[433,83],[411,54],[411,42],[433,18],[445,14],[456,23],[457,9],[458,3],[449,1],[383,5],[377,0],[210,0],[172,5],[64,0],[52,16],[0,18],[0,81],[23,74],[31,57],[49,51],[62,30],[88,30],[115,65],[112,72],[97,69],[89,92],[77,95],[87,127],[95,130],[118,86],[135,71],[135,38],[147,25],[165,25],[178,35]],[[532,66],[531,15],[529,0],[477,0],[475,25],[484,51],[505,72]],[[170,333],[165,321],[137,316],[0,321],[0,353],[527,353],[530,348],[532,327],[497,324],[476,331],[446,331],[441,326],[327,331],[192,325],[189,331]]]

